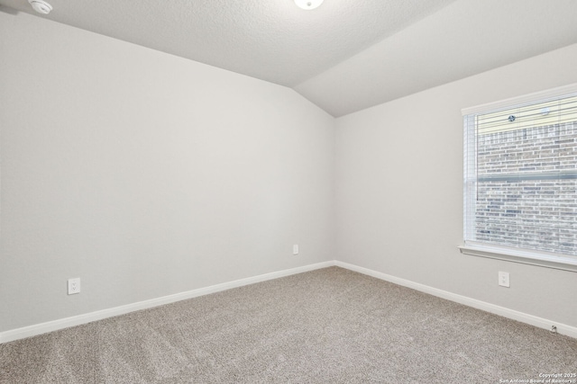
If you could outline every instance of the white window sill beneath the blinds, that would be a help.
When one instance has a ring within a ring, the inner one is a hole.
[[[463,255],[489,257],[490,259],[504,260],[513,263],[524,263],[545,268],[577,272],[577,259],[567,256],[540,255],[521,250],[509,251],[506,249],[481,246],[458,246],[458,248]]]

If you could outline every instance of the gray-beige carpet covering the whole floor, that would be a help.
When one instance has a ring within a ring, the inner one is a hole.
[[[559,372],[577,372],[576,339],[338,267],[0,345],[0,382],[11,384],[499,383]]]

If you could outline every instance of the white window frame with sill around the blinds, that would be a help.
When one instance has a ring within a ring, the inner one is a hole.
[[[505,260],[514,263],[526,263],[547,268],[560,269],[564,271],[577,272],[577,256],[562,255],[557,253],[528,250],[525,248],[517,248],[514,246],[494,246],[488,243],[479,241],[467,240],[467,216],[468,212],[474,210],[474,200],[467,198],[467,192],[472,192],[472,189],[467,188],[468,167],[475,167],[476,164],[470,164],[471,156],[467,151],[467,146],[470,145],[469,140],[469,122],[467,116],[477,113],[488,113],[498,110],[515,108],[526,103],[545,102],[547,99],[561,97],[564,95],[577,94],[577,83],[572,85],[560,86],[549,89],[543,92],[536,92],[534,94],[526,94],[519,97],[509,98],[495,103],[486,103],[478,106],[463,108],[463,245],[458,246],[463,255],[473,255],[488,257],[492,259]],[[475,179],[476,181],[477,179]],[[470,191],[471,190],[471,191]]]

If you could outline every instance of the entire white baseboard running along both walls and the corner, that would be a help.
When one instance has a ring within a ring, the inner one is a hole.
[[[413,290],[420,290],[421,292],[425,292],[431,294],[433,296],[437,296],[442,299],[448,299],[472,308],[478,308],[490,313],[494,313],[496,315],[502,317],[508,317],[513,320],[520,321],[522,323],[529,324],[531,326],[538,326],[540,328],[551,329],[551,326],[557,327],[557,332],[562,335],[568,335],[574,338],[577,338],[577,327],[575,326],[567,326],[565,324],[561,324],[555,322],[553,320],[548,320],[542,317],[536,317],[533,315],[528,315],[523,312],[518,312],[513,309],[499,307],[494,304],[487,303],[485,301],[477,300],[468,298],[466,296],[457,295],[452,292],[448,292],[446,290],[438,290],[433,287],[429,287],[424,284],[419,284],[418,282],[408,281],[405,279],[400,279],[395,276],[391,276],[386,273],[377,272],[370,270],[368,268],[363,268],[357,265],[353,265],[350,263],[343,263],[339,261],[330,261],[324,263],[315,263],[310,265],[305,265],[298,268],[292,268],[289,270],[279,271],[279,272],[270,272],[266,274],[261,274],[258,276],[249,277],[246,279],[236,280],[236,281],[229,281],[224,282],[222,284],[211,285],[205,288],[199,288],[197,290],[188,290],[186,292],[176,293],[174,295],[164,296],[158,299],[150,299],[145,301],[140,301],[133,304],[127,304],[121,307],[116,308],[109,308],[103,309],[96,312],[90,312],[84,315],[78,315],[75,317],[66,317],[61,318],[59,320],[49,321],[47,323],[41,323],[33,326],[24,326],[22,328],[16,328],[10,331],[5,331],[0,333],[0,344],[8,343],[14,340],[23,339],[26,337],[31,337],[35,335],[41,335],[52,331],[57,331],[59,329],[68,328],[70,326],[79,326],[82,324],[87,324],[92,321],[102,320],[107,317],[114,317],[119,315],[124,315],[126,313],[130,313],[136,310],[146,309],[146,308],[153,308],[164,304],[173,303],[176,301],[184,300],[184,299],[192,299],[197,298],[198,296],[208,295],[210,293],[220,292],[222,290],[230,290],[232,288],[242,287],[243,285],[253,284],[255,282],[261,281],[268,281],[272,279],[278,279],[279,277],[289,276],[291,274],[314,271],[316,269],[326,268],[330,266],[339,266],[354,272],[360,272],[362,274],[366,274],[372,277],[375,277],[380,280],[389,281],[398,285],[402,285],[404,287],[411,288]]]

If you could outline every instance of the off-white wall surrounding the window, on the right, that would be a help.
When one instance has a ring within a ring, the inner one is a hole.
[[[572,45],[338,119],[337,259],[577,326],[576,273],[457,250],[461,109],[577,82],[575,68]],[[510,272],[509,289],[499,271]]]

